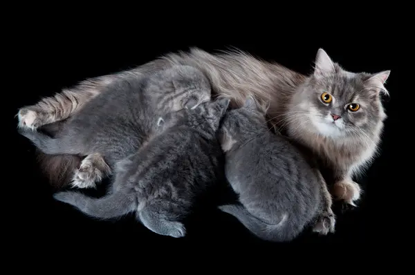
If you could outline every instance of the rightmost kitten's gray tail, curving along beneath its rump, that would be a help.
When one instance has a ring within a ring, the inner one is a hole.
[[[252,216],[243,205],[222,205],[219,209],[237,218],[252,234],[255,234],[261,240],[284,242],[292,239],[291,236],[284,234],[286,230],[282,229],[286,217],[282,218],[276,225],[270,225],[264,220]]]

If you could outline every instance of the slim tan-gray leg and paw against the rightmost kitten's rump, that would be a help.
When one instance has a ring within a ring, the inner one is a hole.
[[[320,191],[322,193],[322,206],[320,208],[320,214],[318,214],[313,226],[313,231],[321,235],[327,235],[329,232],[335,231],[335,215],[331,206],[333,205],[333,199],[327,187],[326,181],[322,177],[320,171],[315,170],[317,176],[320,178]]]

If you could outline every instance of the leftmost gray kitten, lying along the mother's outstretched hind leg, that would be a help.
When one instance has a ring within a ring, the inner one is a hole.
[[[86,156],[75,170],[75,187],[94,187],[109,176],[116,162],[151,139],[158,117],[210,100],[208,79],[190,66],[173,66],[138,79],[124,75],[122,79],[62,125],[52,125],[57,129],[53,138],[28,128],[21,131],[43,153]]]

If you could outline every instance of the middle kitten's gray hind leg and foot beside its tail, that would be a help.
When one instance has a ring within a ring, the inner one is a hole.
[[[145,227],[156,234],[171,236],[174,238],[184,237],[185,225],[178,221],[178,205],[167,200],[152,200],[142,208],[138,217]]]

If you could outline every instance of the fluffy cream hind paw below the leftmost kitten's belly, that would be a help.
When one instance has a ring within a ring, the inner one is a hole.
[[[82,160],[80,168],[75,171],[72,186],[78,188],[95,187],[95,184],[102,181],[111,174],[111,168],[105,162],[100,153],[87,155]]]

